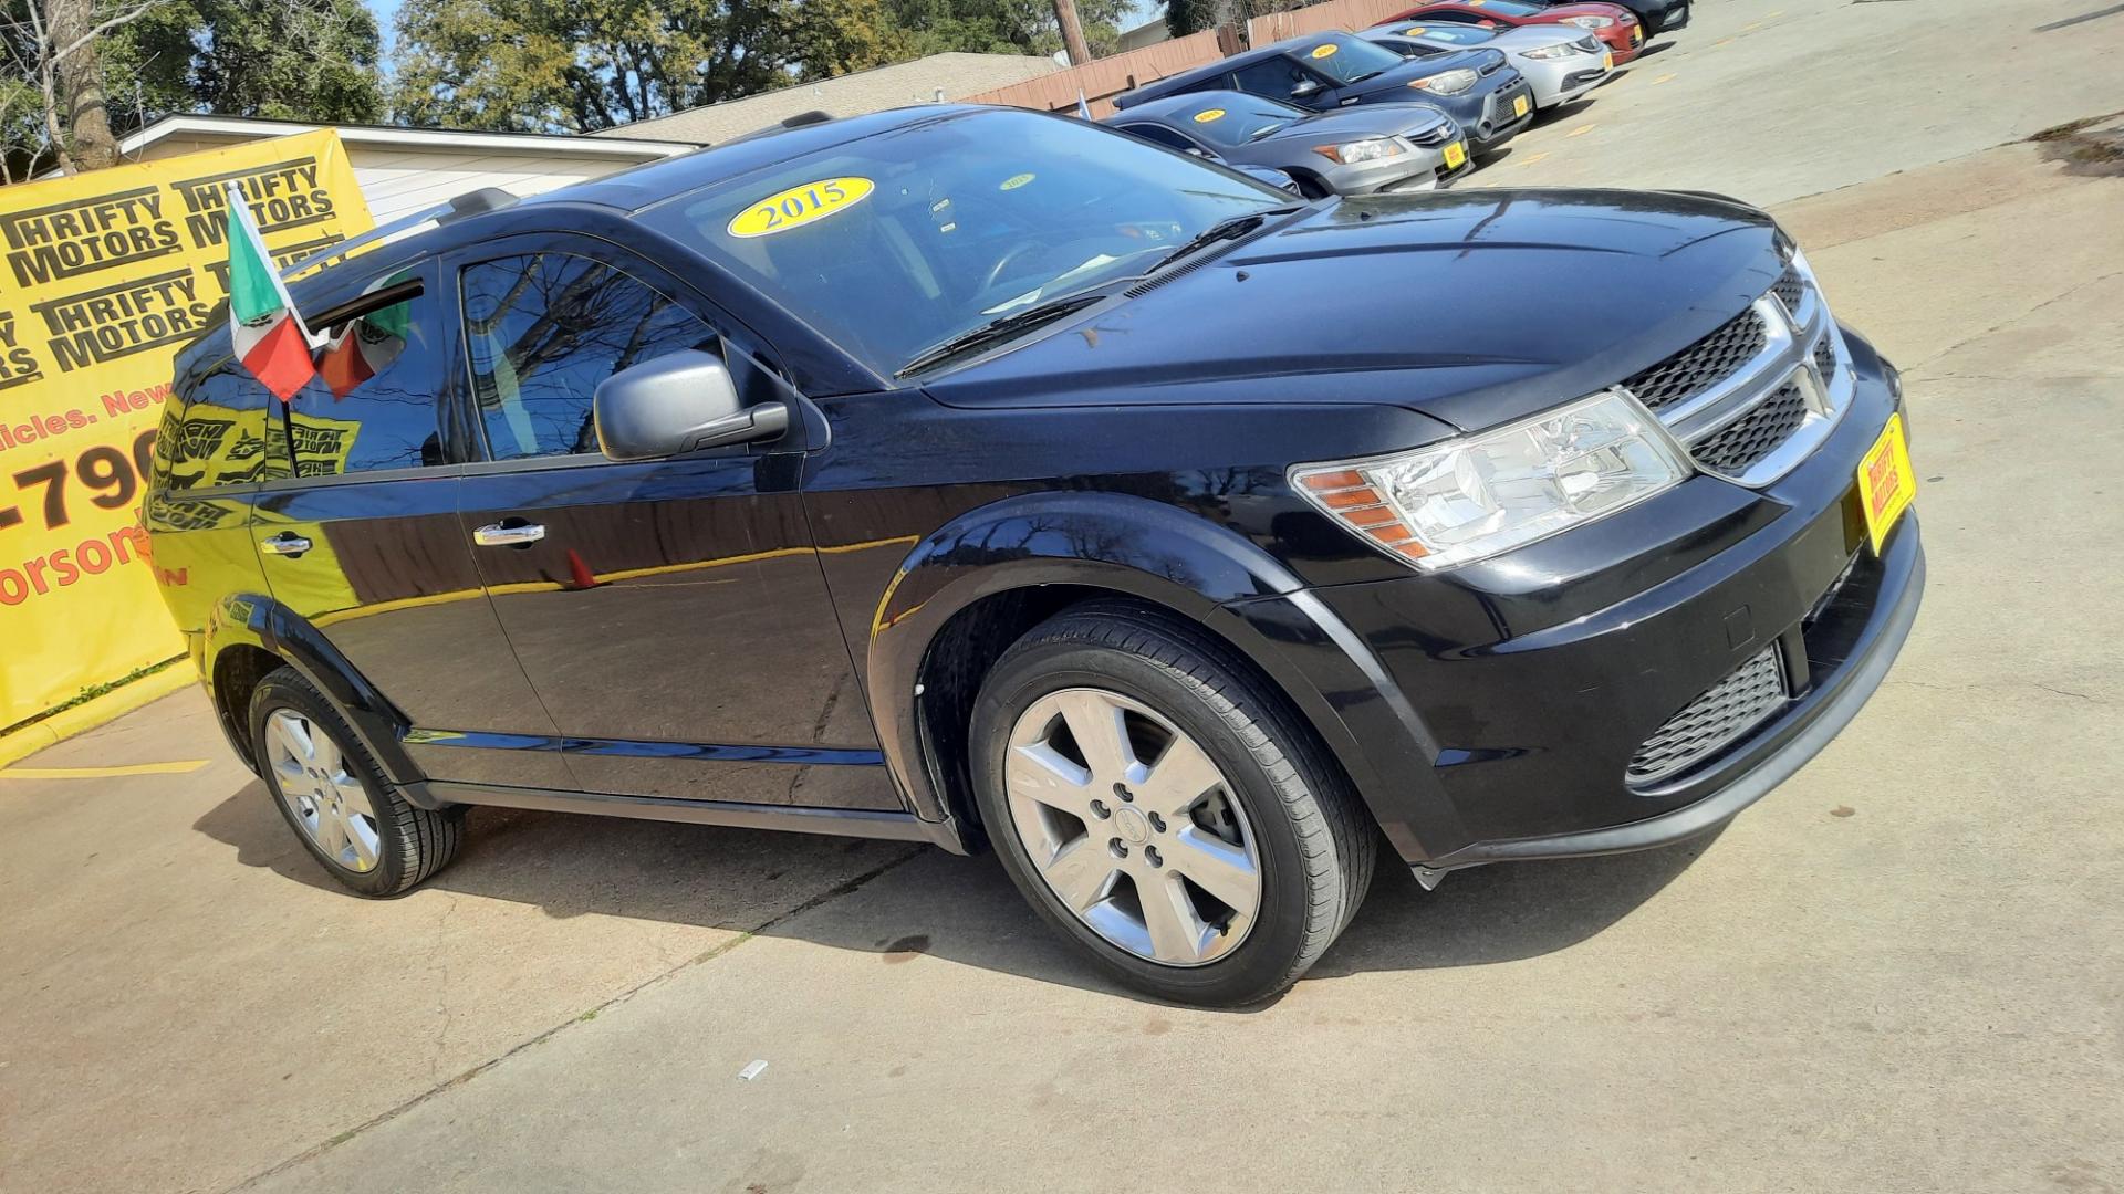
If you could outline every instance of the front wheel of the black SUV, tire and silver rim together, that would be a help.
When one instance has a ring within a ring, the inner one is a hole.
[[[975,799],[1011,880],[1124,984],[1247,1005],[1349,924],[1374,833],[1289,705],[1196,627],[1066,610],[990,671]]]

